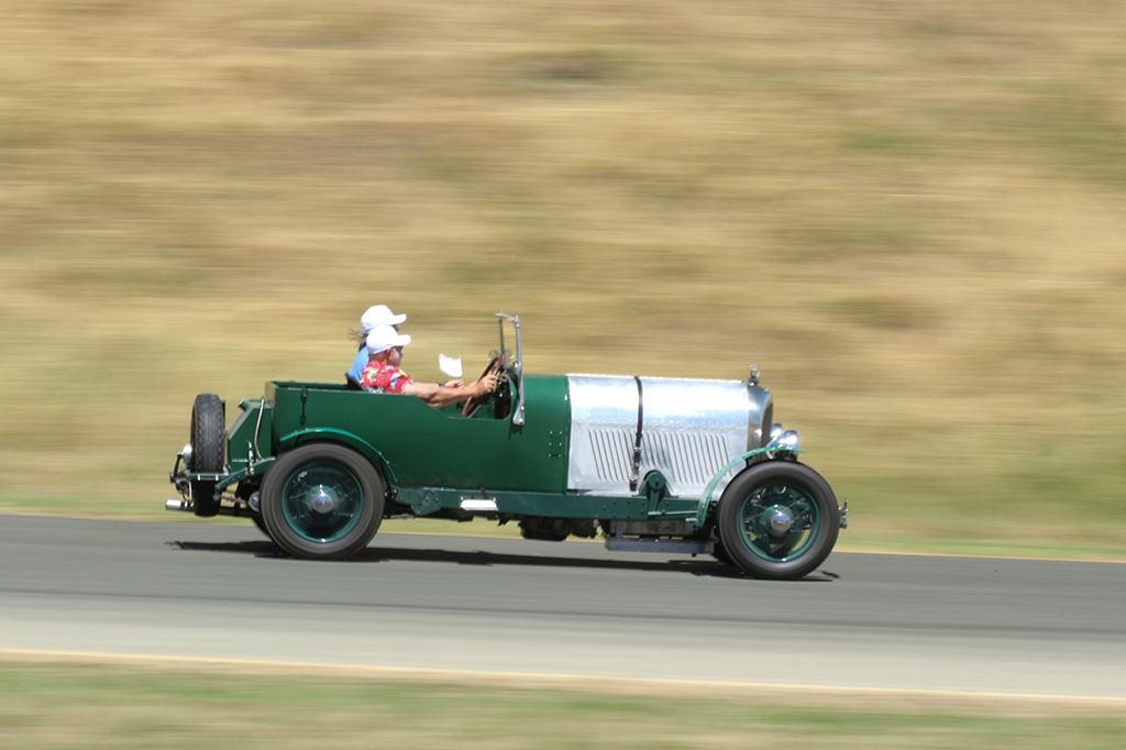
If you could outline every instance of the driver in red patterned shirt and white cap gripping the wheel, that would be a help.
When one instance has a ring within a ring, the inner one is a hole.
[[[474,396],[492,393],[497,387],[497,376],[489,373],[481,376],[473,385],[463,381],[438,383],[415,383],[410,375],[399,366],[403,361],[403,347],[411,342],[411,337],[400,333],[392,325],[379,324],[367,334],[367,350],[370,359],[359,378],[365,391],[376,393],[405,393],[414,395],[435,409],[465,401]]]

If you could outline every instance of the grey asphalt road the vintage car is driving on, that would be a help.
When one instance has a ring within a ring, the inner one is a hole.
[[[593,543],[0,516],[0,650],[1126,700],[1126,565],[834,553],[797,582]]]

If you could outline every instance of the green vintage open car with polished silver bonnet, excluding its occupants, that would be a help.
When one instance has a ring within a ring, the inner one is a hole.
[[[225,403],[197,396],[170,475],[182,500],[167,507],[249,516],[314,560],[355,555],[402,517],[601,534],[611,550],[713,554],[766,579],[828,557],[848,501],[797,461],[757,367],[747,381],[533,375],[519,318],[498,321],[498,387],[465,404],[271,381],[224,430]]]

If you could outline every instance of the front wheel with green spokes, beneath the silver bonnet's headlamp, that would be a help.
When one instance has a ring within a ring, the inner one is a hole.
[[[840,528],[837,497],[815,471],[789,461],[744,470],[720,500],[723,551],[743,572],[769,580],[808,575],[825,561]]]

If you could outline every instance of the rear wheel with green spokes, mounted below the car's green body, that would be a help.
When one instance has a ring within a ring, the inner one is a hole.
[[[282,454],[262,480],[266,533],[294,557],[351,557],[379,530],[383,503],[383,482],[372,464],[334,443]]]

